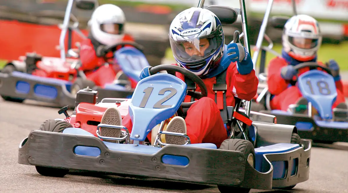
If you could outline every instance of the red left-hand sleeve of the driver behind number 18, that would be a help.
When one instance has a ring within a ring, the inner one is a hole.
[[[280,76],[280,70],[286,65],[286,61],[279,57],[274,58],[269,62],[267,85],[271,94],[278,95],[287,88],[289,82]]]

